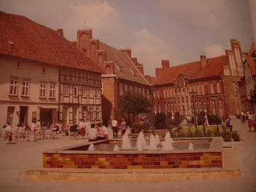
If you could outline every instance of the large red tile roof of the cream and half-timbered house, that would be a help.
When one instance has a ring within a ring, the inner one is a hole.
[[[0,54],[102,72],[95,62],[60,36],[57,31],[27,17],[0,12],[0,31]],[[10,45],[9,41],[12,41],[13,45]]]

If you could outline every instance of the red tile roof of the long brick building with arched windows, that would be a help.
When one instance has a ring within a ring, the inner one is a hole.
[[[179,74],[188,77],[188,79],[220,76],[223,62],[227,62],[227,56],[207,59],[207,64],[204,68],[201,68],[200,61],[168,67],[163,71],[161,76],[154,81],[153,85],[173,83]]]

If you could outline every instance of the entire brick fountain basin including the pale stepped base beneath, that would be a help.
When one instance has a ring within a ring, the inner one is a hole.
[[[20,170],[22,181],[77,182],[163,182],[239,178],[239,163],[234,148],[223,148],[223,138],[179,138],[176,142],[211,140],[209,148],[194,150],[80,150],[74,145],[43,153],[39,170]],[[97,141],[100,145],[121,140]],[[175,144],[173,143],[173,145]],[[80,148],[80,149],[79,149]]]

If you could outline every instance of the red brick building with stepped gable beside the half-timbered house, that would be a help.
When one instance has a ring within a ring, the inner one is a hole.
[[[127,90],[141,92],[150,99],[150,76],[144,75],[143,65],[133,58],[131,49],[115,49],[110,45],[93,39],[92,29],[77,30],[77,41],[72,42],[102,68],[102,120],[108,123],[113,119],[115,109],[120,108],[120,100]],[[118,121],[120,122],[121,116]],[[134,121],[134,116],[126,116]]]

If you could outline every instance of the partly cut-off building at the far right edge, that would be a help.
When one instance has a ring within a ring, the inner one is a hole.
[[[255,43],[252,43],[247,60],[243,62],[244,76],[238,81],[242,110],[256,113],[256,54]]]

